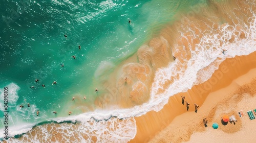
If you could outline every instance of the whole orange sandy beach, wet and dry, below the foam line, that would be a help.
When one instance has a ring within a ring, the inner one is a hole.
[[[187,92],[169,98],[159,112],[151,111],[136,117],[137,134],[130,142],[252,142],[252,126],[246,113],[256,109],[256,52],[223,61],[206,82],[195,85]],[[190,103],[188,111],[186,103]],[[195,105],[199,105],[197,113]],[[244,116],[239,117],[238,111]],[[223,115],[236,117],[236,125],[222,125]],[[208,121],[208,127],[203,124]],[[219,128],[213,129],[213,123]],[[218,138],[218,140],[217,140]]]

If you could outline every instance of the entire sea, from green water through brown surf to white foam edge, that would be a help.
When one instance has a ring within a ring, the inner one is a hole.
[[[170,96],[209,79],[225,58],[256,50],[255,2],[244,1],[244,9],[213,24],[204,19],[214,5],[232,9],[228,2],[3,1],[0,112],[8,87],[9,140],[134,138],[134,116],[159,111]]]

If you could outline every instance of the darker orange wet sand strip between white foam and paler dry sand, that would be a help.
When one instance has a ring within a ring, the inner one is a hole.
[[[228,87],[233,80],[246,75],[250,69],[256,68],[256,64],[253,64],[256,63],[256,59],[254,59],[254,57],[256,57],[256,52],[253,52],[247,56],[226,58],[219,65],[219,68],[215,70],[211,78],[206,82],[194,85],[187,92],[178,93],[170,97],[168,104],[166,104],[159,112],[150,111],[145,115],[135,117],[137,134],[134,139],[130,140],[130,142],[160,142],[161,139],[166,138],[166,136],[162,136],[163,131],[166,127],[173,126],[173,122],[177,116],[183,113],[188,114],[188,117],[202,114],[201,110],[203,110],[203,107],[201,106],[207,97],[209,97],[210,93]],[[239,85],[237,85],[237,88],[238,87]],[[186,106],[181,104],[181,96],[185,96],[185,101],[190,103],[190,108],[188,111],[186,111]],[[227,95],[223,97],[227,97]],[[200,106],[198,113],[195,113],[194,103]],[[179,128],[182,128],[182,125]],[[188,141],[191,134],[192,132],[188,133],[186,137],[181,137],[183,139],[179,140],[178,142]],[[169,137],[172,138],[172,136]],[[178,137],[176,136],[176,138]]]

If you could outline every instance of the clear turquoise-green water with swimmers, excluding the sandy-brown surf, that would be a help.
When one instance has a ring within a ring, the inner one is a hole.
[[[77,115],[95,109],[98,94],[94,90],[100,90],[100,71],[111,72],[176,12],[202,1],[24,2],[25,6],[5,0],[0,5],[0,91],[9,88],[11,126],[68,116],[69,110]],[[6,22],[13,11],[19,17]],[[71,58],[73,55],[76,59]],[[103,76],[108,76],[106,73]],[[57,85],[52,85],[53,81]],[[73,96],[75,101],[71,101]],[[82,105],[90,109],[78,108],[76,104],[81,104],[77,100],[83,100]],[[25,107],[20,108],[20,104]]]

